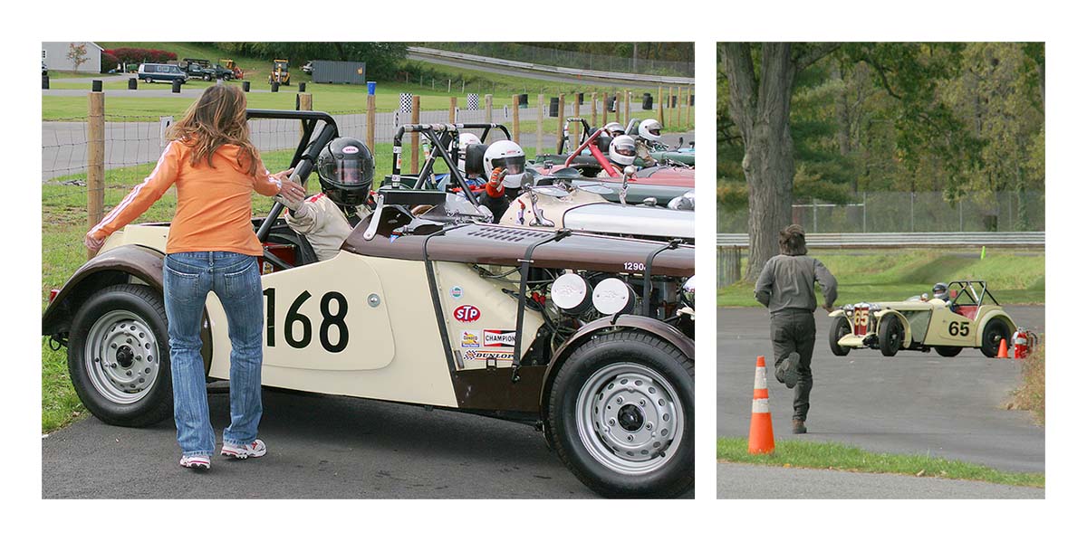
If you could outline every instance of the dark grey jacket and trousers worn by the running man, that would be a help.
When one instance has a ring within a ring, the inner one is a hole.
[[[792,418],[807,420],[812,391],[812,351],[815,348],[815,282],[823,287],[824,306],[838,298],[838,281],[822,262],[808,255],[775,255],[754,285],[754,298],[770,309],[770,338],[774,366],[789,353],[800,355],[800,378],[792,394]]]

